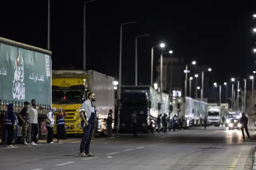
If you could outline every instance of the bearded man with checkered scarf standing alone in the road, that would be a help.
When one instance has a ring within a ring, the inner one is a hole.
[[[84,101],[79,110],[79,117],[82,118],[81,125],[83,127],[83,136],[80,144],[80,153],[78,154],[79,157],[94,156],[89,152],[89,149],[95,126],[95,107],[92,103],[95,100],[95,94],[90,92],[88,94],[88,99]]]

